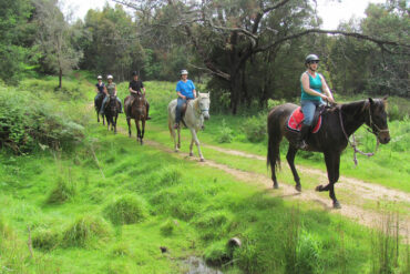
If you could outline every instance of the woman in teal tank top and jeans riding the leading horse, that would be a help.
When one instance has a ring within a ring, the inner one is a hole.
[[[317,72],[319,58],[316,54],[309,54],[305,59],[307,70],[301,73],[301,111],[305,119],[297,139],[297,146],[306,149],[306,139],[309,133],[309,128],[312,123],[315,110],[317,106],[325,104],[325,101],[335,103],[330,89],[327,85],[324,75]]]

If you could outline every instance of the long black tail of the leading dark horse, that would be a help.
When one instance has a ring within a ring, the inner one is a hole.
[[[281,141],[281,130],[279,118],[275,115],[275,109],[270,111],[267,121],[268,131],[268,153],[266,165],[270,165],[270,169],[280,168],[280,153],[279,144]]]

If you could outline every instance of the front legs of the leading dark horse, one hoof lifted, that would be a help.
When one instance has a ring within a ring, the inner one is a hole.
[[[339,166],[340,166],[340,154],[338,152],[325,152],[325,162],[327,169],[327,175],[329,179],[329,183],[327,185],[318,185],[316,186],[316,191],[329,191],[329,196],[334,202],[335,209],[340,209],[340,203],[336,199],[335,194],[335,183],[339,179]]]

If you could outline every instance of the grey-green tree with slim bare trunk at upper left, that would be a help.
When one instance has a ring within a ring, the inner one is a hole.
[[[76,68],[83,53],[74,49],[71,41],[72,29],[58,4],[58,0],[34,0],[41,64],[43,70],[59,74],[61,89],[62,75]]]

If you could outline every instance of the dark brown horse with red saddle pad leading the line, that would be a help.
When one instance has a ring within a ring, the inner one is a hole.
[[[339,180],[340,154],[348,144],[348,136],[357,131],[363,123],[377,136],[380,143],[390,141],[386,113],[387,98],[375,99],[338,104],[326,109],[321,114],[322,123],[317,133],[310,133],[307,138],[308,151],[322,152],[328,173],[329,183],[318,185],[316,191],[329,191],[334,207],[339,209],[340,204],[335,195],[335,183]],[[286,103],[274,108],[268,114],[268,153],[267,164],[270,165],[274,189],[278,189],[276,168],[280,166],[279,143],[285,135],[289,141],[287,162],[290,166],[296,190],[301,191],[300,179],[295,168],[295,155],[297,133],[287,128],[287,121],[293,111],[298,108],[296,104]]]

